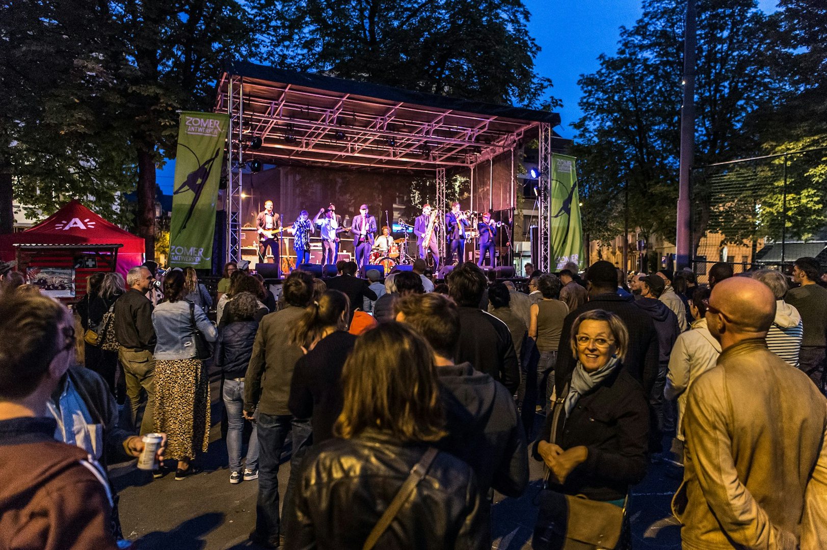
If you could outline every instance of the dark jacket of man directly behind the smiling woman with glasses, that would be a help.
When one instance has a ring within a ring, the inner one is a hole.
[[[616,313],[625,323],[629,330],[629,351],[626,352],[623,366],[635,380],[641,382],[646,395],[649,395],[657,377],[659,346],[655,325],[643,309],[614,293],[590,296],[586,304],[566,315],[560,347],[557,348],[557,365],[554,367],[557,395],[562,395],[563,387],[571,380],[571,372],[577,364],[571,353],[571,325],[578,315],[592,309],[605,309]]]

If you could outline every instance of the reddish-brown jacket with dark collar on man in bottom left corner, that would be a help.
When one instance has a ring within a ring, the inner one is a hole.
[[[103,471],[52,418],[0,421],[0,548],[117,548]],[[5,473],[2,473],[5,472]]]

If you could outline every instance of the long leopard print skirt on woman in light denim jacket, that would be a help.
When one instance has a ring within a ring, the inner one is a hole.
[[[155,361],[155,432],[166,433],[165,459],[207,451],[209,399],[207,369],[200,360]]]

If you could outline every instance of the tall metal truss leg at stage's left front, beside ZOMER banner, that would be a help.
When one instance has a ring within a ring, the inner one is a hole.
[[[227,90],[227,261],[241,260],[241,171],[244,167],[244,93],[241,77],[230,77]]]

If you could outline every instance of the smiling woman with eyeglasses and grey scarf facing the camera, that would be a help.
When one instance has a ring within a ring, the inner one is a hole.
[[[614,313],[593,309],[575,319],[570,338],[577,364],[534,448],[534,457],[547,466],[547,485],[533,548],[557,548],[574,531],[599,536],[602,519],[622,522],[629,486],[646,474],[648,405],[638,380],[623,368],[626,326]],[[578,499],[566,495],[604,503],[605,513],[585,517],[594,512],[583,512]]]

